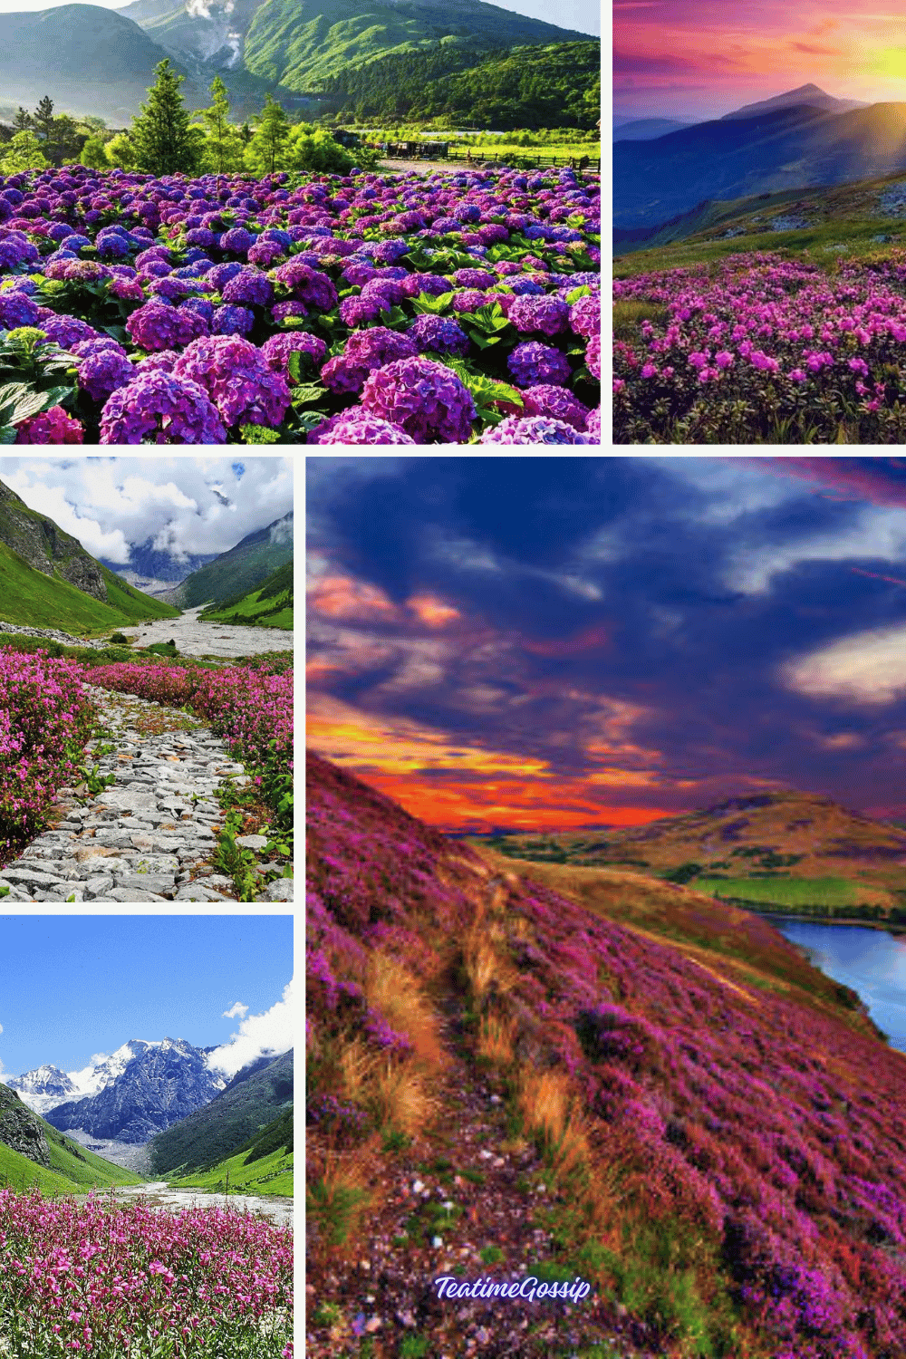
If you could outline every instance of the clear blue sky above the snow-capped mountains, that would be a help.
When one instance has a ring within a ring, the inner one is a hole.
[[[81,1070],[129,1038],[228,1044],[236,1003],[253,1040],[280,1040],[291,977],[291,916],[0,916],[1,1070]]]

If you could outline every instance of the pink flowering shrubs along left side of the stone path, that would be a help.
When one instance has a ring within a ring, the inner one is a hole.
[[[0,864],[75,775],[92,718],[76,662],[0,650]]]

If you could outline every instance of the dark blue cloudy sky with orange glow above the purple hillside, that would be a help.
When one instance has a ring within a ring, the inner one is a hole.
[[[447,829],[906,817],[906,461],[308,458],[308,745]]]

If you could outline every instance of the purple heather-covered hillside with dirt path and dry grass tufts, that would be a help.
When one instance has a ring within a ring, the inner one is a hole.
[[[312,1354],[906,1355],[906,1059],[852,992],[679,885],[628,874],[682,909],[617,923],[318,756],[307,800]],[[527,1273],[594,1287],[431,1284]]]

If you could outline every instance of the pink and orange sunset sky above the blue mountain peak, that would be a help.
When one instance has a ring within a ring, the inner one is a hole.
[[[906,15],[879,0],[615,0],[614,110],[720,117],[814,83],[906,102]]]

